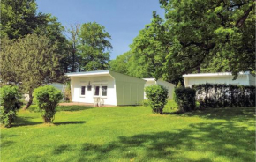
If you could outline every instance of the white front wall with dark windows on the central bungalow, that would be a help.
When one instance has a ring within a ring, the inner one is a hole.
[[[92,86],[91,91],[88,91],[87,86]],[[106,105],[117,105],[116,87],[115,80],[110,76],[102,77],[72,77],[72,101],[73,102],[84,102],[84,103],[94,103],[94,90],[95,85],[107,85],[107,96],[99,96],[104,99],[104,104]],[[86,86],[85,96],[81,96],[81,86]],[[101,94],[101,89],[100,89]],[[98,97],[98,96],[97,96]]]

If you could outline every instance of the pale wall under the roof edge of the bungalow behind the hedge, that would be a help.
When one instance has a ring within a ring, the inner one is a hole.
[[[232,85],[249,85],[246,75],[240,75],[236,80],[232,80],[233,76],[228,77],[184,77],[185,86],[199,84],[232,84]]]

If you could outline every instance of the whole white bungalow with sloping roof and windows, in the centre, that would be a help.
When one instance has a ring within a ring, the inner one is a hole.
[[[138,105],[145,80],[110,70],[66,73],[71,77],[72,102]]]

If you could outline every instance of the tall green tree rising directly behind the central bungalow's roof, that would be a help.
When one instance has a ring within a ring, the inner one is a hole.
[[[85,23],[79,32],[79,52],[83,70],[105,70],[108,68],[111,36],[105,27],[97,23]]]

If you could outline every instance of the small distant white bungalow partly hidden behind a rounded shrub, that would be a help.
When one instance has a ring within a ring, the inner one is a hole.
[[[162,79],[158,79],[158,80],[155,80],[155,78],[143,78],[143,79],[146,80],[145,87],[147,87],[149,85],[162,85],[165,88],[167,88],[168,89],[168,95],[169,95],[168,99],[172,99],[175,85],[173,85],[169,82],[166,82]],[[144,99],[147,99],[145,92],[144,92]]]

